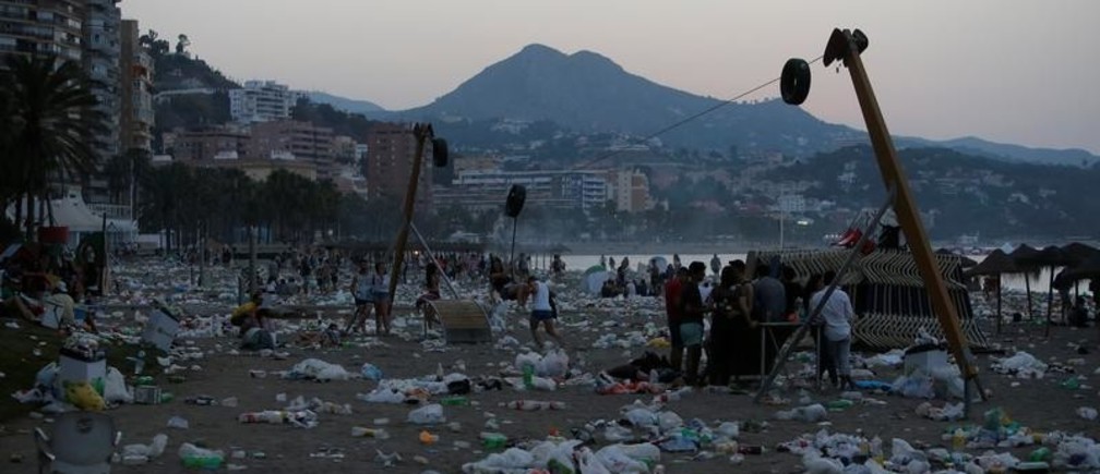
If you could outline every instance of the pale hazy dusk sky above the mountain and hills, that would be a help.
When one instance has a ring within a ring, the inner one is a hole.
[[[389,110],[424,105],[541,43],[727,99],[822,54],[835,26],[864,54],[890,131],[1100,154],[1096,0],[123,0],[124,18],[238,79],[275,79]],[[847,71],[813,68],[804,106],[862,128]],[[768,88],[749,100],[778,95]]]

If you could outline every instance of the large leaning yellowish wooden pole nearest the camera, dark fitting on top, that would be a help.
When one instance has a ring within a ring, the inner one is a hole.
[[[932,300],[932,308],[947,337],[952,353],[955,356],[955,362],[963,373],[968,394],[965,403],[969,407],[970,382],[978,386],[982,398],[985,398],[985,393],[980,391],[980,385],[978,385],[978,370],[971,363],[970,350],[967,347],[966,337],[963,335],[958,314],[955,311],[955,305],[952,304],[950,295],[947,294],[947,286],[939,272],[939,263],[932,252],[928,236],[924,230],[916,203],[913,201],[913,193],[905,179],[905,172],[898,160],[893,140],[890,138],[890,132],[887,129],[882,112],[879,110],[879,102],[871,89],[871,81],[867,77],[867,70],[859,56],[867,48],[867,36],[859,30],[853,32],[836,29],[829,36],[823,59],[826,67],[835,60],[842,60],[848,68],[848,72],[851,74],[851,82],[856,89],[856,97],[859,99],[859,108],[864,113],[864,122],[867,123],[867,133],[870,135],[871,146],[875,148],[875,157],[879,163],[882,181],[887,189],[895,190],[893,208],[898,215],[898,223],[901,224],[910,252],[921,271],[921,276]]]

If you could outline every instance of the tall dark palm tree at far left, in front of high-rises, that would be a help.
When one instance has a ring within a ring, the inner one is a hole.
[[[10,56],[3,80],[13,122],[7,163],[16,196],[26,199],[26,238],[34,236],[34,198],[46,200],[51,180],[82,179],[95,169],[90,137],[103,128],[96,97],[80,66],[53,56]]]

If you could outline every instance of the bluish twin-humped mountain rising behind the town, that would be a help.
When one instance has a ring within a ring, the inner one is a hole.
[[[809,155],[864,134],[824,123],[803,110],[766,101],[733,103],[661,86],[592,52],[563,54],[529,45],[432,103],[388,114],[389,120],[486,119],[552,121],[576,132],[649,136],[710,109],[714,112],[663,133],[668,146],[781,150]]]

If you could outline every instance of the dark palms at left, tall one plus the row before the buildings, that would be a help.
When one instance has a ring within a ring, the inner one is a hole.
[[[252,225],[273,240],[301,241],[318,230],[339,228],[341,217],[361,228],[388,218],[386,226],[396,228],[396,203],[373,203],[377,208],[371,208],[328,181],[286,171],[256,182],[240,170],[178,163],[156,168],[141,150],[100,157],[90,146],[106,127],[96,105],[77,63],[10,56],[0,67],[0,210],[14,204],[12,224],[26,240],[33,240],[41,223],[53,223],[51,194],[67,183],[86,183],[95,172],[106,178],[112,200],[139,208],[146,233],[201,233],[233,241]],[[372,216],[364,219],[366,215]]]

